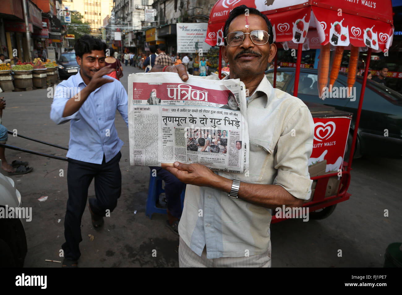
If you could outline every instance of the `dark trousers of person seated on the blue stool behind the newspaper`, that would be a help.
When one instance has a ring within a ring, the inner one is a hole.
[[[168,210],[172,216],[180,219],[182,213],[180,194],[183,191],[184,183],[162,167],[150,167],[150,169],[156,169],[156,175],[164,180]]]

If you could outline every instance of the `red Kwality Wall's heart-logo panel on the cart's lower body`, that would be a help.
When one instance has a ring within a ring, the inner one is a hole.
[[[336,172],[343,163],[351,124],[349,117],[313,118],[313,152],[308,165],[326,160],[325,172]]]

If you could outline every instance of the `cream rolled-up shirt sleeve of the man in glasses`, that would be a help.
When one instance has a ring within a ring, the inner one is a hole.
[[[290,117],[277,143],[273,184],[281,185],[293,197],[307,200],[312,180],[308,173],[308,159],[313,150],[314,121],[306,106]]]

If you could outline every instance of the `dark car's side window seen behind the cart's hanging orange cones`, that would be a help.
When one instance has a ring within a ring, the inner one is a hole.
[[[297,90],[297,93],[318,96],[318,85],[317,85],[318,81],[317,80],[318,80],[317,74],[300,73],[299,88]],[[295,85],[295,83],[293,81],[291,88],[290,88],[292,94],[293,94],[294,85]],[[337,88],[337,90],[335,90],[335,87]],[[344,88],[344,87],[345,86],[342,83],[340,83],[338,80],[336,80],[334,85],[332,86],[332,93],[334,94],[333,98],[336,98],[335,92],[337,92],[338,99],[345,100],[346,96],[343,94],[346,93],[345,92],[346,88]]]

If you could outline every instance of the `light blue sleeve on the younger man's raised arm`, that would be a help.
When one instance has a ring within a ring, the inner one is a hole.
[[[75,95],[74,91],[72,91],[72,89],[75,88],[76,87],[67,87],[66,85],[63,85],[63,83],[60,83],[56,86],[53,94],[53,103],[51,104],[50,110],[50,118],[56,124],[64,124],[71,119],[78,117],[79,111],[75,112],[71,116],[63,117],[63,112],[67,101]]]

